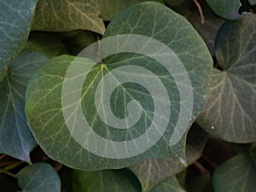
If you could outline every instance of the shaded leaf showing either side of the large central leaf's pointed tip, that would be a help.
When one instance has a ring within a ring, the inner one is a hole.
[[[172,159],[145,160],[129,168],[140,180],[143,192],[150,191],[155,185],[163,182],[168,177],[175,176],[178,172],[182,172],[197,160],[201,156],[206,143],[207,134],[194,124],[189,130],[186,145],[188,165],[183,165],[184,162],[177,162]]]

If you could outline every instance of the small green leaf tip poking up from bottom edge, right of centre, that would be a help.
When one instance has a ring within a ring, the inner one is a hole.
[[[150,192],[186,192],[178,183],[176,177],[170,177],[157,185]]]

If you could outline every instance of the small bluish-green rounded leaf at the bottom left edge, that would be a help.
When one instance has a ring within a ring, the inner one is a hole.
[[[47,163],[26,166],[16,177],[24,192],[61,192],[60,177]]]

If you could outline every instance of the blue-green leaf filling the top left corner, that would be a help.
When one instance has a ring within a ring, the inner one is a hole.
[[[26,43],[37,0],[0,1],[0,81],[9,62]]]

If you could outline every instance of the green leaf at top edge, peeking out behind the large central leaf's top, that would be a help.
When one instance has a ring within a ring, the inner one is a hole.
[[[163,0],[151,0],[152,2],[164,3]],[[100,0],[101,15],[103,20],[113,20],[125,9],[136,3],[147,2],[147,0]]]

